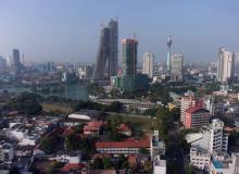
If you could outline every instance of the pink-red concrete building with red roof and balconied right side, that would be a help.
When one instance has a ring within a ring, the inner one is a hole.
[[[202,107],[191,107],[186,110],[185,128],[200,128],[205,126],[210,120],[210,112]]]

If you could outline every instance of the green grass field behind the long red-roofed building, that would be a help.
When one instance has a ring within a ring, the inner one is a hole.
[[[143,130],[151,130],[152,127],[156,129],[156,120],[149,117],[147,115],[131,115],[131,114],[111,114],[109,116],[110,120],[117,119],[121,120],[123,123],[130,123],[134,125],[135,129],[143,129]]]

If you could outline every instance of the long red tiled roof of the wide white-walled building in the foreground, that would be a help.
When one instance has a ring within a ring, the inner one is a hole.
[[[124,141],[96,142],[96,148],[149,148],[149,139],[127,139]]]

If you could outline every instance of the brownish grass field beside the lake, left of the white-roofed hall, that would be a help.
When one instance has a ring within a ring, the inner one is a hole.
[[[71,113],[73,112],[73,109],[71,107],[66,105],[60,105],[54,103],[41,103],[43,111],[46,112],[55,112],[60,111],[62,113]]]

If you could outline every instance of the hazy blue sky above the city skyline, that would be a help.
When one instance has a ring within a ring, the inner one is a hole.
[[[152,51],[165,61],[168,35],[188,62],[215,61],[221,46],[239,51],[239,0],[0,0],[0,54],[18,48],[30,61],[91,62],[111,17],[120,39],[137,34],[139,60]]]

